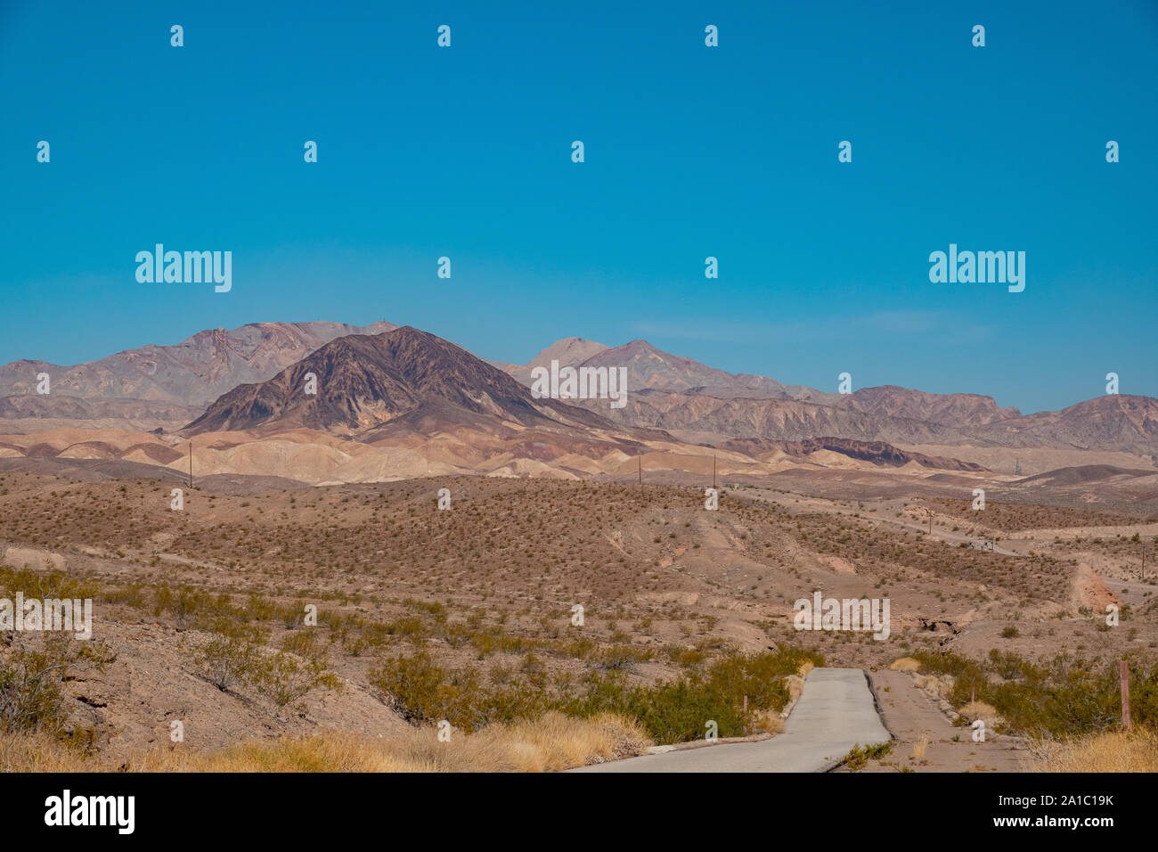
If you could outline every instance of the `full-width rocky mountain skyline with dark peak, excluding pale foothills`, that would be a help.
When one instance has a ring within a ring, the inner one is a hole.
[[[381,437],[395,429],[422,434],[439,423],[485,415],[492,425],[535,422],[659,430],[710,445],[823,437],[899,445],[1158,453],[1158,400],[1149,396],[1106,395],[1060,412],[1023,415],[972,393],[933,394],[893,385],[826,393],[769,377],[728,373],[642,340],[609,347],[565,337],[523,365],[484,362],[412,328],[394,340],[390,352],[357,340],[395,330],[398,326],[384,321],[366,327],[258,322],[232,330],[208,329],[175,345],[142,347],[73,366],[13,362],[0,366],[0,418],[14,422],[12,431],[35,431],[41,420],[80,424],[101,420],[108,425],[120,418],[147,429],[157,424],[166,430],[182,424],[197,430],[276,428],[280,423],[376,430]],[[345,343],[312,361],[338,341]],[[409,366],[401,366],[400,358]],[[626,406],[610,408],[607,400],[533,399],[528,393],[532,370],[549,366],[551,361],[596,370],[624,367]],[[49,396],[36,393],[39,372],[51,377]],[[307,372],[318,376],[322,387],[308,401],[296,396]],[[278,377],[283,384],[270,384]],[[267,386],[258,387],[263,385]]]

